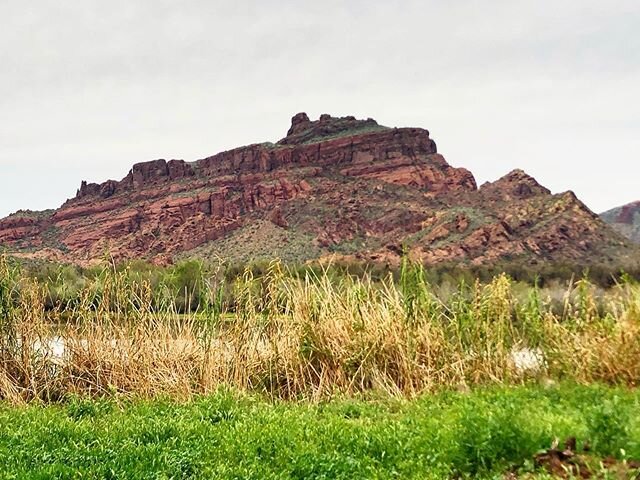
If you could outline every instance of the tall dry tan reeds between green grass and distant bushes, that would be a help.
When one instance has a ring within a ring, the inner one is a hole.
[[[523,295],[503,275],[437,295],[414,265],[399,282],[374,283],[292,275],[274,262],[262,278],[245,272],[232,301],[207,285],[196,311],[178,313],[171,298],[153,300],[149,284],[105,268],[51,309],[44,285],[0,257],[0,397],[188,398],[225,385],[319,399],[532,377],[640,380],[640,286],[631,281]]]

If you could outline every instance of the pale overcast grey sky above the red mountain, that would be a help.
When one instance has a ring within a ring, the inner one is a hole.
[[[2,0],[0,217],[81,180],[282,138],[427,128],[481,184],[640,199],[638,0]]]

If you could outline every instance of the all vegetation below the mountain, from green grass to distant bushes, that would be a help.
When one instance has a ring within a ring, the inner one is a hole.
[[[628,275],[604,288],[408,260],[81,270],[0,257],[0,322],[0,478],[633,478],[640,466]]]

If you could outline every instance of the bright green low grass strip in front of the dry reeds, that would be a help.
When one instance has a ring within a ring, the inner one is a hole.
[[[319,404],[229,392],[5,404],[0,478],[545,478],[532,459],[556,437],[588,441],[593,458],[639,458],[638,412],[637,390],[573,384]]]

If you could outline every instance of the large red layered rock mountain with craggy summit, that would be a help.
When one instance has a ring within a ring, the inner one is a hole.
[[[426,264],[615,263],[637,250],[571,193],[514,170],[478,188],[422,128],[293,117],[277,143],[153,160],[82,182],[59,209],[0,221],[19,256],[79,264],[199,256]]]

